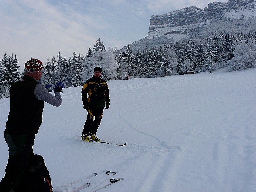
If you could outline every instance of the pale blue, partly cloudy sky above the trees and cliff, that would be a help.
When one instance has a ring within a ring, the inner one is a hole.
[[[227,2],[227,0],[221,0]],[[152,15],[184,7],[204,9],[211,0],[1,0],[0,58],[16,54],[22,66],[31,57],[86,55],[100,38],[117,49],[148,35]]]

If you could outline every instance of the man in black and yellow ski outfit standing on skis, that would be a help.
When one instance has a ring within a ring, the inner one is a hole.
[[[82,88],[84,109],[88,111],[82,132],[82,140],[84,141],[100,141],[96,132],[102,119],[105,103],[105,109],[109,108],[110,103],[108,84],[100,78],[102,68],[95,67],[93,73],[92,78],[88,79]],[[87,97],[87,95],[89,96]]]

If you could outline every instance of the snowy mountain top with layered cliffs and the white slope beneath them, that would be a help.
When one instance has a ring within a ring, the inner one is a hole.
[[[256,0],[214,2],[209,3],[204,10],[198,7],[186,7],[163,15],[152,15],[147,38],[166,36],[179,40],[190,34],[203,33],[207,28],[227,33],[246,32],[256,27],[255,21]],[[212,31],[207,31],[207,34],[210,33]]]

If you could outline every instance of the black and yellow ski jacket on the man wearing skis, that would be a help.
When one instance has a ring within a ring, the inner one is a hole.
[[[87,95],[89,95],[87,97]],[[96,106],[101,105],[102,102],[110,103],[108,84],[104,79],[96,78],[93,76],[88,79],[82,88],[82,101],[85,103],[91,103]],[[104,106],[98,106],[104,107]]]

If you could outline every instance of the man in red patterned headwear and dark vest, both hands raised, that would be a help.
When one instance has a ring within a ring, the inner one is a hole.
[[[60,96],[64,86],[62,82],[56,83],[54,96],[44,85],[37,83],[44,70],[40,60],[27,61],[25,70],[24,77],[10,87],[10,112],[4,131],[4,138],[9,147],[9,159],[5,176],[0,183],[1,192],[24,191],[19,184],[22,183],[30,159],[34,156],[32,147],[42,123],[44,101],[53,106],[60,106],[62,102]],[[47,184],[47,191],[51,191],[50,182],[45,184],[46,187]],[[26,191],[30,191],[29,187],[26,186]]]

